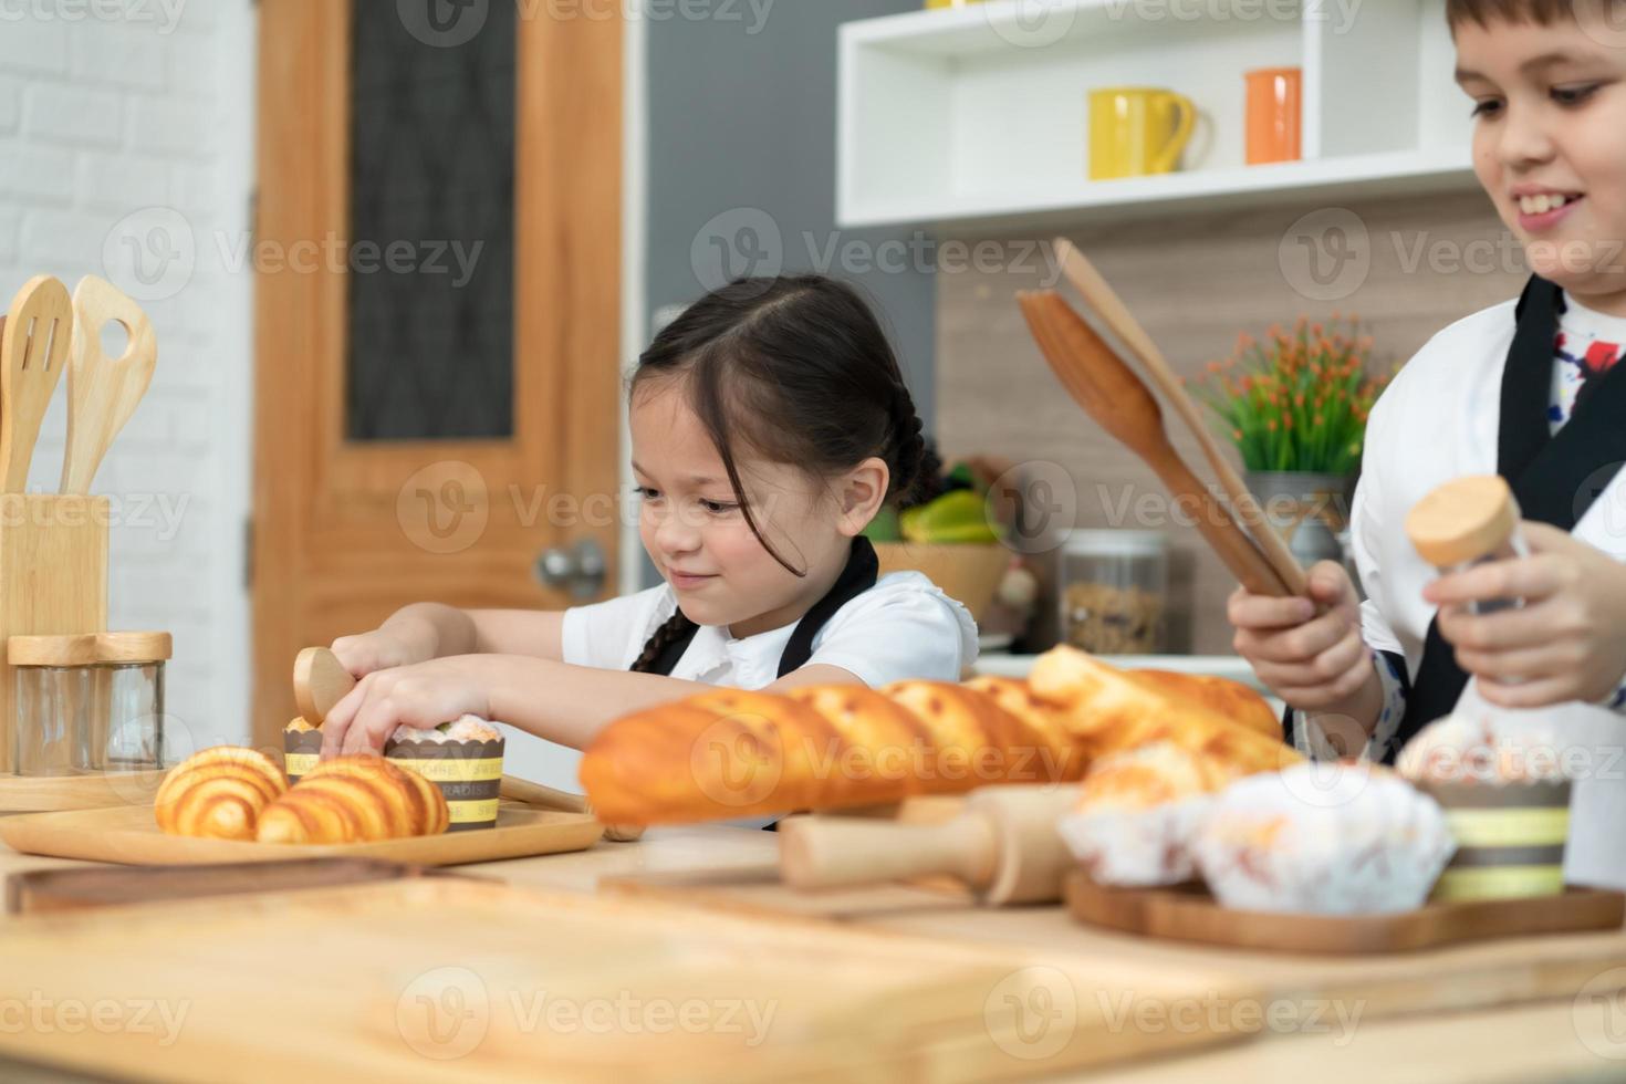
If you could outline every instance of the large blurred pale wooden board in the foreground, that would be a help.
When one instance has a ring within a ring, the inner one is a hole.
[[[1005,1079],[1246,1035],[1125,1025],[1125,998],[1255,995],[1203,972],[452,879],[23,917],[0,959],[0,1004],[94,993],[132,1017],[0,1029],[0,1055],[210,1084]]]

